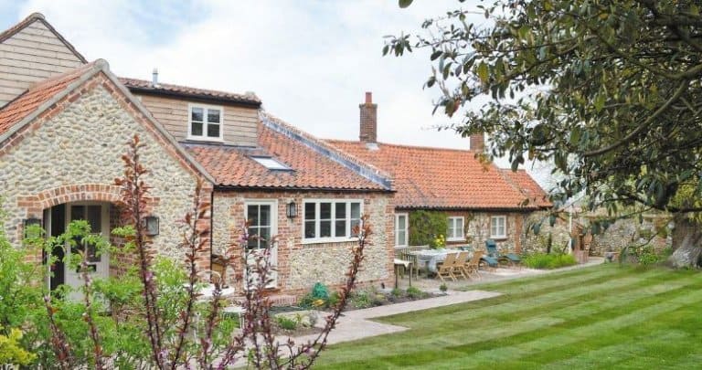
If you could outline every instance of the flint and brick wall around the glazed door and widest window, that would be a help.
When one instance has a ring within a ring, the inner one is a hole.
[[[346,279],[346,270],[351,261],[350,250],[356,246],[356,241],[303,240],[303,202],[317,199],[359,200],[362,203],[362,213],[369,215],[373,234],[370,245],[366,248],[366,259],[359,273],[358,284],[385,283],[389,286],[394,280],[394,221],[392,196],[388,193],[216,190],[213,204],[213,253],[240,256],[240,238],[247,205],[272,202],[277,209],[275,235],[278,276],[271,291],[302,296],[317,281],[332,289],[340,287]],[[286,206],[291,202],[296,204],[297,217],[286,216]],[[229,281],[234,280],[233,276],[242,270],[241,259],[234,260],[234,268],[228,271]]]

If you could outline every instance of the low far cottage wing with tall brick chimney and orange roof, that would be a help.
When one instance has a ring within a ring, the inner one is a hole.
[[[395,240],[408,246],[410,214],[441,212],[448,221],[446,244],[482,248],[495,239],[500,248],[522,251],[525,219],[550,206],[543,189],[524,170],[513,173],[482,163],[484,135],[470,138],[471,150],[378,142],[378,105],[370,92],[359,105],[359,141],[327,140],[339,150],[388,172],[397,190]]]

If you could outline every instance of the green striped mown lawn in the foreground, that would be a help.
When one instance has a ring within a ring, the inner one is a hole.
[[[503,296],[380,319],[410,330],[331,346],[320,369],[702,366],[702,274],[616,264],[473,286]]]

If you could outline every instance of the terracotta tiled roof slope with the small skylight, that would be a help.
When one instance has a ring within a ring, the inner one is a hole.
[[[311,188],[384,191],[384,186],[356,174],[281,132],[259,125],[259,148],[185,143],[217,185],[262,188]],[[271,156],[292,171],[269,170],[250,156]]]

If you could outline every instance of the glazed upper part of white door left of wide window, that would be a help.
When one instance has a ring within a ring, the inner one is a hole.
[[[245,203],[244,217],[249,223],[250,249],[267,248],[275,235],[278,204],[272,200],[249,200]]]

